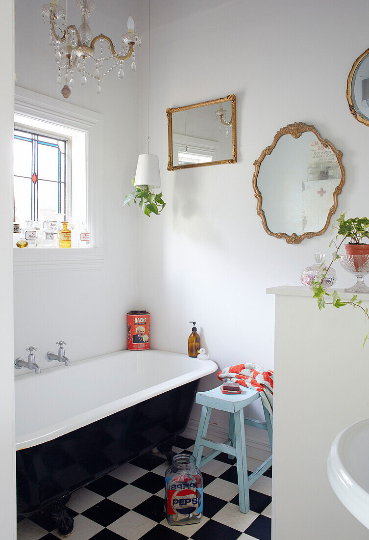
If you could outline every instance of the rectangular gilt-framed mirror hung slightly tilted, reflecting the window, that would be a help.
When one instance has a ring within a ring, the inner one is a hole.
[[[236,98],[166,109],[168,171],[236,163]]]

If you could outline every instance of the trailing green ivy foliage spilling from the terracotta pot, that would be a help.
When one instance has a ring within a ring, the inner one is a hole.
[[[313,298],[317,299],[318,308],[319,310],[322,310],[326,305],[332,305],[333,307],[340,308],[343,306],[352,306],[353,308],[359,308],[363,311],[365,317],[367,318],[369,322],[369,314],[368,314],[368,308],[363,308],[361,304],[363,303],[361,300],[357,300],[358,295],[354,294],[350,300],[343,301],[340,298],[340,295],[338,291],[333,291],[331,293],[328,293],[323,288],[323,281],[328,273],[330,267],[333,264],[333,261],[340,259],[340,255],[338,254],[339,248],[342,246],[343,242],[349,238],[350,244],[362,244],[364,238],[369,238],[369,219],[368,218],[350,218],[345,219],[345,212],[340,215],[340,217],[336,221],[336,225],[333,226],[333,228],[337,229],[336,237],[333,238],[329,244],[329,247],[334,244],[336,246],[336,250],[332,253],[332,261],[328,268],[325,266],[325,261],[322,262],[322,264],[319,266],[319,272],[317,279],[315,281],[311,282],[311,290],[314,293]],[[343,237],[342,240],[340,240],[338,246],[336,241],[338,240],[338,237]],[[327,299],[331,299],[332,301],[328,302]],[[363,342],[363,347],[366,343],[366,340],[369,338],[369,333],[366,334]]]

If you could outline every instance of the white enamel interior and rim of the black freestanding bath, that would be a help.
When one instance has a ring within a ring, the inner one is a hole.
[[[183,354],[124,350],[19,376],[16,449],[50,441],[216,369],[211,360]]]

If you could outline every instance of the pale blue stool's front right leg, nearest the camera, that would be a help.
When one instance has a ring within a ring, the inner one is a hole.
[[[240,512],[246,514],[250,509],[248,492],[248,474],[246,460],[245,424],[243,423],[243,409],[234,413],[234,430],[236,438],[236,459],[238,476],[238,496]]]

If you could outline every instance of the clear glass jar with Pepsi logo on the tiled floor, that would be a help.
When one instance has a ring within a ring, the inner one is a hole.
[[[177,454],[165,471],[165,517],[170,525],[200,523],[203,476],[191,454]]]

